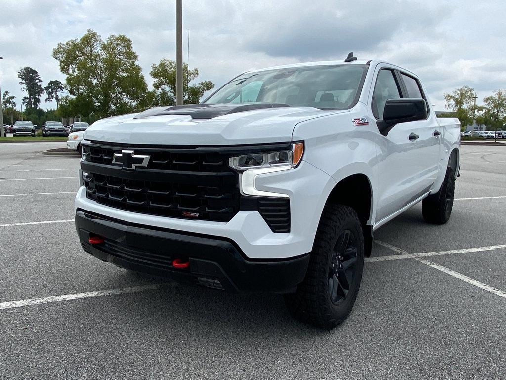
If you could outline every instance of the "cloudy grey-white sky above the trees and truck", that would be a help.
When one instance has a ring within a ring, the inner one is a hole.
[[[175,58],[175,1],[0,0],[2,92],[17,97],[17,72],[65,77],[52,50],[91,28],[132,38],[151,86],[151,64]],[[436,109],[469,85],[483,99],[506,89],[505,0],[183,0],[184,60],[217,86],[236,74],[292,62],[385,59],[417,73]],[[55,107],[41,103],[43,108]]]

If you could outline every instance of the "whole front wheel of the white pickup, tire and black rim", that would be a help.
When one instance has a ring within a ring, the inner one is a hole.
[[[296,293],[285,295],[298,319],[332,328],[350,314],[362,279],[364,236],[355,210],[331,204],[316,232],[306,278]]]

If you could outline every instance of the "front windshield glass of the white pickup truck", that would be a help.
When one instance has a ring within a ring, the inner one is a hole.
[[[366,65],[332,65],[248,72],[204,103],[263,102],[347,109],[356,104],[366,71]]]

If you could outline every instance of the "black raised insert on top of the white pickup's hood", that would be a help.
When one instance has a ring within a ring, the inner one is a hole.
[[[134,119],[155,115],[190,115],[192,119],[212,119],[229,113],[278,107],[289,107],[289,105],[284,103],[186,104],[151,108],[139,113]]]

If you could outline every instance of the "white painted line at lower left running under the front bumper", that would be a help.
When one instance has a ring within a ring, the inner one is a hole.
[[[160,284],[149,284],[149,285],[139,285],[129,287],[118,287],[114,289],[86,291],[83,293],[53,295],[51,297],[44,297],[44,298],[32,298],[30,300],[3,302],[0,303],[0,310],[22,308],[25,306],[33,306],[40,304],[49,304],[53,302],[64,302],[72,300],[81,300],[85,298],[103,297],[104,295],[133,293],[136,291],[158,289],[160,286],[161,286]]]

